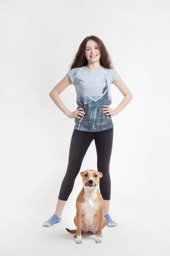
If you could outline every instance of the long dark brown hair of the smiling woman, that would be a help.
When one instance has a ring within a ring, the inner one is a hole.
[[[109,56],[109,53],[107,52],[107,48],[104,46],[104,43],[101,41],[100,38],[93,35],[90,37],[85,37],[85,39],[82,40],[80,47],[74,57],[74,61],[71,64],[70,69],[73,69],[74,67],[82,67],[88,64],[88,60],[85,57],[85,46],[88,40],[90,39],[97,42],[98,48],[101,51],[101,58],[100,58],[101,66],[114,69],[114,65],[112,64],[111,58]]]

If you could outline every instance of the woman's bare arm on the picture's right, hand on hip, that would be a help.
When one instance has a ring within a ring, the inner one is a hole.
[[[125,108],[126,105],[131,101],[133,98],[133,94],[128,89],[128,86],[125,85],[122,78],[120,78],[120,75],[117,75],[117,79],[114,82],[115,86],[120,90],[120,92],[124,95],[123,100],[120,102],[119,105],[115,109],[110,108],[107,105],[104,105],[103,113],[106,114],[106,116],[116,116],[118,113],[120,113],[123,108]]]

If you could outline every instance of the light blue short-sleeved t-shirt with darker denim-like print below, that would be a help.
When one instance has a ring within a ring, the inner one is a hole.
[[[112,104],[110,86],[117,78],[117,71],[101,66],[93,72],[82,66],[70,69],[68,75],[77,92],[77,108],[85,110],[85,116],[74,118],[74,129],[101,132],[112,128],[112,116],[106,116],[102,108]]]

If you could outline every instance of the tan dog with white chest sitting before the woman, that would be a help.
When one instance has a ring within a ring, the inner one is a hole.
[[[82,233],[96,234],[96,243],[101,243],[101,231],[107,225],[104,218],[104,200],[98,190],[98,184],[103,173],[98,170],[84,170],[82,176],[83,187],[77,196],[77,214],[74,217],[74,224],[77,230],[66,230],[74,233],[76,243],[82,243]]]

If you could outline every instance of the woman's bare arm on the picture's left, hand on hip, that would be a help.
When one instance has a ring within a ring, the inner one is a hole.
[[[50,97],[53,99],[53,102],[60,108],[60,110],[69,118],[81,118],[82,116],[85,116],[84,110],[81,108],[75,111],[70,111],[66,106],[63,104],[61,98],[59,97],[59,94],[66,89],[70,84],[72,84],[71,79],[69,78],[69,75],[66,74],[65,77],[50,91]]]

